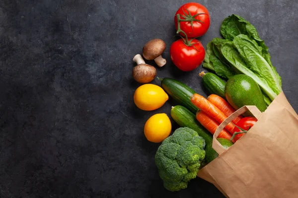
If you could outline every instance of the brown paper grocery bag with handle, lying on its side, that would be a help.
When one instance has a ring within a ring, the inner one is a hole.
[[[246,110],[257,123],[233,146],[217,140],[224,126]],[[213,148],[219,157],[198,172],[227,198],[298,198],[298,115],[284,93],[261,113],[244,106],[217,129]]]

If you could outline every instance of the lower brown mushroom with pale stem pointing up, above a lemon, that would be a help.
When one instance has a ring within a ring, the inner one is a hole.
[[[155,67],[146,64],[140,54],[135,55],[133,58],[138,65],[133,68],[133,77],[139,83],[149,83],[156,76]]]

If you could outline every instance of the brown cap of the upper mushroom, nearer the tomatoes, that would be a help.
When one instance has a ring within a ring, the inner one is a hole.
[[[143,56],[147,60],[153,60],[160,56],[165,49],[165,43],[161,39],[152,39],[143,48]]]

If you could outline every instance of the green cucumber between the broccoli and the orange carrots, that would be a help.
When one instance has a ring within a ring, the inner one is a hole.
[[[210,163],[219,156],[219,154],[212,148],[212,135],[197,121],[195,114],[193,114],[184,106],[176,105],[171,109],[171,117],[181,127],[189,127],[195,130],[199,136],[205,139],[206,157],[204,164]]]

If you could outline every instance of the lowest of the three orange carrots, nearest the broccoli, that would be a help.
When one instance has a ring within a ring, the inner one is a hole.
[[[212,119],[206,112],[202,110],[198,110],[196,114],[197,120],[205,127],[212,135],[215,133],[216,129],[220,126],[217,121]],[[218,138],[224,138],[230,140],[232,135],[226,131],[225,129],[222,130]]]

